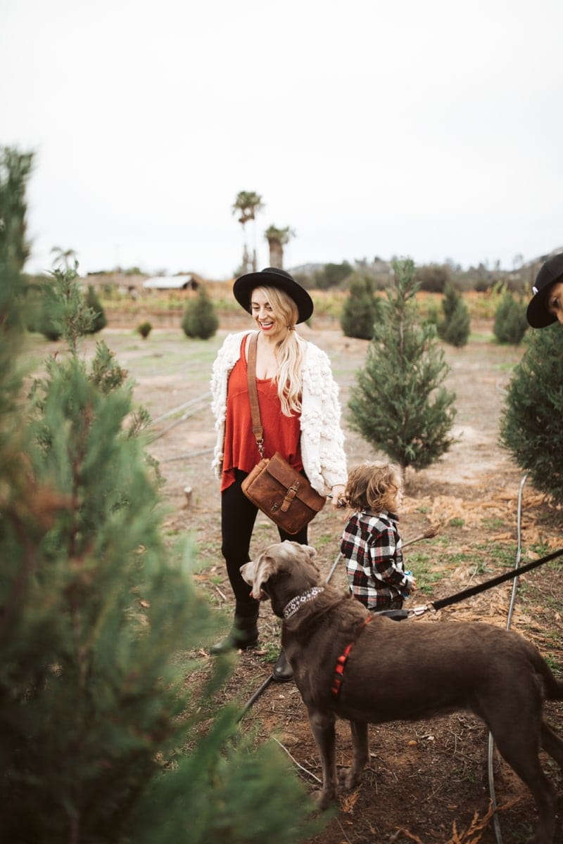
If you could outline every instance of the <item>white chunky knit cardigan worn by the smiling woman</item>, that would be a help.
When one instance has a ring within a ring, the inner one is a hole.
[[[252,332],[229,334],[219,349],[211,376],[211,408],[215,417],[217,443],[212,468],[218,478],[223,465],[223,443],[227,414],[227,381],[241,357],[242,338]],[[340,427],[338,385],[333,379],[328,355],[312,343],[305,344],[301,378],[301,460],[307,478],[319,495],[328,495],[333,486],[346,484],[344,434]]]

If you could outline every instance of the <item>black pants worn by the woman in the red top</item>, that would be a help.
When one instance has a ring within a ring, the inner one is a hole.
[[[227,564],[227,574],[230,585],[235,592],[237,604],[254,603],[250,597],[251,587],[241,577],[241,565],[250,560],[248,555],[254,522],[258,509],[246,498],[241,490],[246,472],[235,469],[235,483],[231,484],[221,495],[221,552]],[[292,539],[301,545],[307,544],[307,526],[299,533],[285,533],[278,528],[279,540]]]

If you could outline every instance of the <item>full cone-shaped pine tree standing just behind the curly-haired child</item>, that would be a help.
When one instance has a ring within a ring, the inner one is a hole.
[[[426,468],[452,445],[455,395],[441,386],[449,367],[434,327],[420,323],[414,262],[394,262],[365,367],[357,373],[351,425],[402,468]]]

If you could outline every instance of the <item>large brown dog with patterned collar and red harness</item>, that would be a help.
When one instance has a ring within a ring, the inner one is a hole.
[[[351,788],[368,760],[369,723],[464,709],[485,721],[533,793],[539,823],[532,844],[552,844],[555,789],[541,769],[539,749],[563,768],[563,741],[542,714],[544,699],[563,700],[563,682],[539,651],[517,633],[481,622],[399,623],[371,614],[321,582],[313,555],[308,545],[273,544],[241,574],[254,598],[269,598],[284,619],[282,646],[321,756],[319,806],[326,809],[336,796],[336,717],[350,722],[354,758],[344,782]]]

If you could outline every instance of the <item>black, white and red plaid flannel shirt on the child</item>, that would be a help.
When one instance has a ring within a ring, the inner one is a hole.
[[[411,581],[404,571],[398,516],[387,511],[356,511],[340,541],[351,592],[367,609],[386,609],[407,598]]]

